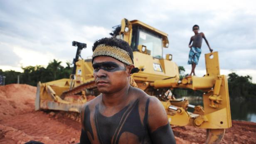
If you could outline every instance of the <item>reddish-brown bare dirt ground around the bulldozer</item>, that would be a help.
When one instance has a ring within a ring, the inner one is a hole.
[[[45,144],[79,142],[81,124],[66,112],[34,111],[36,87],[11,84],[0,86],[0,144],[24,144],[30,140]],[[202,144],[205,129],[173,128],[177,144]],[[256,123],[232,121],[222,144],[256,144]]]

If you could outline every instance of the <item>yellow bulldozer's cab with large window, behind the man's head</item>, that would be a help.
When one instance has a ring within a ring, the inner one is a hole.
[[[133,51],[146,50],[156,59],[163,58],[163,47],[168,47],[167,34],[138,20],[123,19],[121,25],[113,27],[113,37],[123,39],[129,43]]]

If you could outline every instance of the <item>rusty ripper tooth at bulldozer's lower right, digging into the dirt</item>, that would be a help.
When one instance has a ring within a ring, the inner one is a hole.
[[[225,134],[225,129],[207,129],[205,144],[219,144]]]

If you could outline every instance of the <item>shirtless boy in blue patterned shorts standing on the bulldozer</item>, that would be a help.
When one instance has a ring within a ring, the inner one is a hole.
[[[202,32],[198,33],[199,26],[194,25],[192,29],[193,29],[193,32],[194,32],[194,36],[192,36],[190,38],[190,44],[191,44],[192,41],[193,41],[193,44],[192,45],[188,44],[188,47],[190,48],[190,54],[189,54],[189,59],[187,61],[187,64],[192,65],[192,70],[191,70],[191,73],[190,73],[189,76],[192,76],[192,73],[195,76],[194,68],[196,68],[196,65],[198,63],[198,60],[199,60],[199,57],[200,57],[200,54],[201,54],[201,46],[202,46],[202,39],[203,38],[204,38],[207,46],[209,47],[209,50],[211,52],[213,51],[213,49],[210,48],[209,43],[208,43],[207,39],[204,36],[204,33],[202,33]]]

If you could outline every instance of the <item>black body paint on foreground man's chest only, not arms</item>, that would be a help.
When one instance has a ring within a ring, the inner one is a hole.
[[[145,114],[144,120],[141,122],[138,104],[139,100],[136,100],[111,117],[103,116],[96,105],[94,120],[101,144],[118,144],[125,132],[137,137],[140,144],[151,144],[146,124],[148,114]],[[147,109],[148,103],[146,104],[146,112],[148,112]]]

